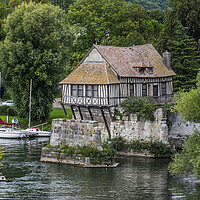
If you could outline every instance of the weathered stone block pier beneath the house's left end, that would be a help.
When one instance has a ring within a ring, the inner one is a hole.
[[[96,121],[54,119],[52,122],[51,146],[100,144],[101,129]]]

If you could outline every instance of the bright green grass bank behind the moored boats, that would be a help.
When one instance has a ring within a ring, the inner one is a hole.
[[[72,111],[70,108],[66,109],[67,118],[72,119]],[[7,116],[0,115],[0,118],[7,122]],[[17,116],[9,116],[9,122],[12,122],[12,119],[18,119],[19,123],[21,124],[22,129],[26,129],[28,127],[28,118],[18,118]],[[43,126],[43,130],[51,130],[51,122],[53,119],[56,118],[65,118],[65,114],[62,108],[55,108],[51,111],[48,124]],[[43,122],[45,123],[45,122]],[[31,121],[31,126],[42,124],[41,122]],[[39,127],[40,128],[40,127]]]

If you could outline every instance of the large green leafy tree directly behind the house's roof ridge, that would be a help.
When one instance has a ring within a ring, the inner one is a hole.
[[[76,32],[73,67],[93,44],[132,46],[152,43],[162,29],[142,6],[123,0],[76,1],[70,5],[67,17]]]

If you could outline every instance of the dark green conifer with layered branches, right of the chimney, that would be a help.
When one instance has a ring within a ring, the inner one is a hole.
[[[174,79],[175,91],[180,88],[189,90],[195,87],[200,68],[200,57],[196,42],[194,38],[187,36],[186,32],[187,29],[180,24],[174,31],[173,39],[169,39],[167,43],[167,50],[171,52],[172,56],[171,66],[176,73]]]

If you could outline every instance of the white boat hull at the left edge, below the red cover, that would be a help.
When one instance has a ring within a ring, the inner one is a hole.
[[[27,137],[21,130],[15,130],[12,128],[0,128],[0,138],[8,139],[21,139]]]

